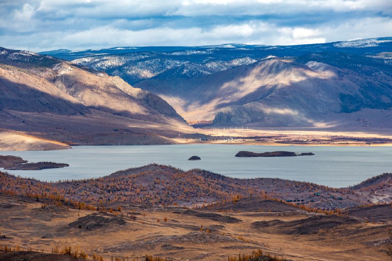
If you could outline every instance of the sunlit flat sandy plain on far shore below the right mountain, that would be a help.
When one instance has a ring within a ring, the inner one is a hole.
[[[200,141],[174,139],[177,143],[301,145],[301,146],[392,146],[392,130],[366,128],[358,130],[316,128],[266,129],[196,129],[196,133],[222,140]],[[187,137],[187,136],[185,136]],[[232,137],[233,140],[227,139]],[[194,138],[194,137],[192,137]]]

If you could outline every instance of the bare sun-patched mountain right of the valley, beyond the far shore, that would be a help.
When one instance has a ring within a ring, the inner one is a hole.
[[[313,61],[313,56],[319,61]],[[356,56],[313,56],[272,57],[212,75],[148,79],[136,86],[163,97],[191,123],[213,121],[219,126],[341,125],[339,119],[344,113],[358,112],[358,117],[368,118],[360,111],[392,107],[389,65],[373,62],[373,66],[339,68],[327,64],[327,58],[353,60]],[[373,61],[367,57],[362,60],[365,64]]]

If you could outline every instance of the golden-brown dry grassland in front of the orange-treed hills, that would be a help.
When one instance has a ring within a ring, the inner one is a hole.
[[[363,219],[367,207],[355,208],[352,216],[326,215],[258,196],[208,209],[129,202],[97,207],[0,193],[0,260],[69,260],[70,255],[147,260],[151,255],[148,260],[239,261],[240,255],[249,261],[378,261],[388,260],[391,246],[387,205],[376,210],[381,219],[369,220]]]

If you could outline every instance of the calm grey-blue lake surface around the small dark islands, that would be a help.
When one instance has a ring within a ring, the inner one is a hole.
[[[238,158],[240,150],[253,152],[314,152],[314,156]],[[55,151],[0,151],[29,162],[52,161],[70,166],[43,170],[8,170],[9,173],[42,181],[85,179],[150,163],[183,170],[202,168],[237,178],[277,177],[346,187],[369,177],[392,172],[392,147],[262,146],[230,144],[180,144],[133,146],[74,146]],[[200,161],[188,161],[196,155]]]

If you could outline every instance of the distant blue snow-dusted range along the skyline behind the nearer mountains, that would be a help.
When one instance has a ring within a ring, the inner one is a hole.
[[[120,76],[129,84],[149,78],[192,78],[249,65],[270,55],[300,56],[310,52],[334,51],[377,54],[392,50],[392,38],[374,38],[297,46],[223,44],[193,47],[113,47],[42,52],[72,61],[109,75]]]

